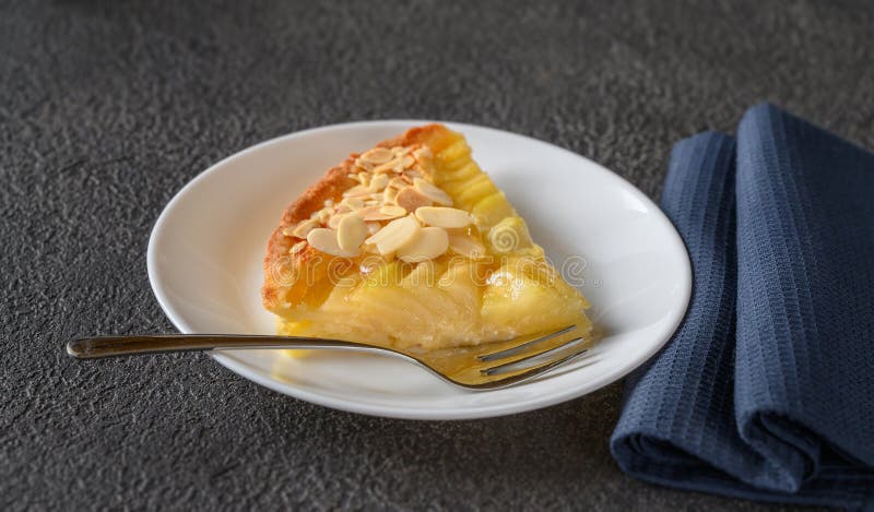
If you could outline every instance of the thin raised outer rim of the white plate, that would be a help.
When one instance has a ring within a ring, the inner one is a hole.
[[[375,119],[375,120],[339,122],[333,124],[312,127],[277,135],[268,139],[265,141],[256,143],[253,145],[246,146],[245,148],[236,153],[233,153],[220,159],[218,162],[210,165],[204,170],[200,171],[197,176],[191,178],[185,186],[182,186],[181,189],[179,189],[173,195],[173,198],[167,202],[167,204],[164,206],[161,214],[158,215],[157,219],[155,221],[155,224],[149,237],[149,245],[146,249],[146,272],[149,275],[149,283],[151,285],[152,293],[155,296],[158,306],[161,306],[161,309],[164,311],[164,314],[169,319],[170,323],[173,323],[173,325],[180,333],[194,334],[194,330],[191,329],[191,326],[175,311],[170,300],[168,299],[168,295],[164,289],[164,285],[158,278],[156,239],[160,236],[161,231],[163,230],[164,226],[167,224],[168,218],[170,218],[173,211],[181,203],[181,201],[184,201],[185,197],[188,193],[190,193],[191,190],[193,190],[199,184],[199,182],[202,181],[206,176],[216,171],[216,169],[222,168],[227,163],[234,159],[243,158],[246,155],[261,151],[267,146],[285,143],[286,141],[303,138],[316,132],[322,132],[322,131],[329,132],[333,130],[350,129],[350,128],[366,128],[368,126],[386,126],[386,124],[415,126],[415,124],[427,124],[433,122],[442,123],[449,128],[453,128],[459,131],[463,131],[465,128],[470,128],[475,130],[491,131],[497,134],[509,134],[513,136],[520,136],[529,142],[545,145],[548,146],[551,150],[558,150],[563,153],[569,154],[570,156],[582,158],[583,160],[587,160],[588,163],[592,164],[598,172],[601,172],[611,179],[618,180],[622,183],[622,186],[629,192],[631,192],[635,197],[637,197],[637,199],[641,200],[642,202],[651,206],[654,214],[658,217],[660,217],[660,219],[663,223],[665,223],[666,226],[670,226],[669,233],[672,238],[671,240],[672,245],[676,245],[682,249],[682,251],[680,252],[683,257],[683,263],[684,263],[684,269],[683,269],[684,272],[682,272],[684,283],[681,284],[685,285],[682,288],[682,294],[683,294],[682,302],[684,303],[684,307],[682,308],[682,313],[677,314],[676,318],[672,319],[670,326],[664,329],[664,332],[660,336],[662,340],[659,343],[653,344],[647,350],[646,357],[642,357],[640,359],[640,362],[638,362],[637,365],[631,365],[628,368],[623,369],[618,373],[606,373],[604,376],[601,376],[600,378],[593,379],[592,381],[587,381],[584,385],[569,388],[559,391],[557,393],[554,393],[548,397],[529,400],[521,404],[519,403],[497,404],[492,406],[477,406],[475,408],[453,407],[453,408],[441,408],[441,409],[427,409],[427,408],[401,409],[397,407],[392,408],[390,406],[382,406],[377,404],[358,403],[352,400],[341,400],[326,394],[312,393],[307,390],[295,388],[287,383],[282,383],[275,379],[271,379],[269,376],[262,374],[261,372],[251,368],[249,365],[246,365],[243,361],[238,361],[227,354],[222,354],[221,352],[211,352],[208,353],[209,356],[212,357],[214,360],[216,360],[220,365],[222,365],[226,369],[257,384],[263,385],[264,388],[268,388],[277,393],[288,395],[298,400],[303,400],[309,403],[318,404],[321,406],[344,410],[349,413],[364,414],[377,417],[397,418],[397,419],[463,420],[463,419],[481,419],[481,418],[506,416],[511,414],[520,414],[544,407],[550,407],[563,402],[567,402],[583,396],[586,394],[592,393],[605,385],[609,385],[613,382],[623,379],[635,369],[645,365],[648,360],[652,358],[653,355],[659,353],[662,349],[662,347],[671,340],[671,337],[673,337],[674,333],[683,322],[683,319],[686,317],[689,308],[689,302],[692,299],[692,288],[693,288],[692,262],[689,260],[688,248],[686,247],[683,237],[676,230],[674,224],[671,222],[668,215],[665,215],[665,213],[661,210],[661,207],[659,207],[659,205],[654,201],[652,201],[642,191],[640,191],[634,183],[631,183],[624,177],[619,176],[618,174],[610,170],[609,168],[602,166],[598,162],[587,158],[583,155],[580,155],[565,147],[558,146],[551,142],[542,141],[540,139],[535,139],[527,134],[516,133],[492,127],[484,127],[481,124],[472,124],[472,123],[454,122],[454,121],[440,121],[440,120],[426,120],[426,119]],[[488,393],[488,392],[474,391],[473,393]]]

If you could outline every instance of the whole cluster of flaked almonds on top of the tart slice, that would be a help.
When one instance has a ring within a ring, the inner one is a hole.
[[[355,258],[364,250],[410,263],[450,250],[466,258],[485,254],[479,235],[469,233],[473,216],[449,207],[452,198],[423,177],[422,162],[430,157],[427,147],[404,146],[359,155],[357,169],[349,175],[357,183],[341,201],[329,199],[309,219],[283,229],[286,236],[306,238],[290,252],[312,246],[326,254]]]

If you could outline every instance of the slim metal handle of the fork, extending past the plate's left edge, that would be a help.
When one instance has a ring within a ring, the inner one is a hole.
[[[221,348],[368,348],[357,343],[297,336],[244,334],[161,334],[151,336],[95,336],[67,344],[67,354],[80,359],[166,352],[205,352]],[[373,349],[373,347],[369,347]]]

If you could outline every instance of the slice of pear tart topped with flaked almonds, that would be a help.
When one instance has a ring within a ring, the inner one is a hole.
[[[280,334],[398,349],[591,329],[586,298],[442,124],[352,154],[293,202],[262,299]]]

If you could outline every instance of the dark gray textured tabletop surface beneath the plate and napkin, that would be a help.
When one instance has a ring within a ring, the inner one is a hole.
[[[62,344],[172,331],[145,274],[162,207],[302,128],[493,126],[653,198],[673,141],[763,99],[874,147],[867,2],[0,3],[0,509],[766,508],[622,474],[619,384],[414,422],[298,402],[202,355],[78,362]]]

